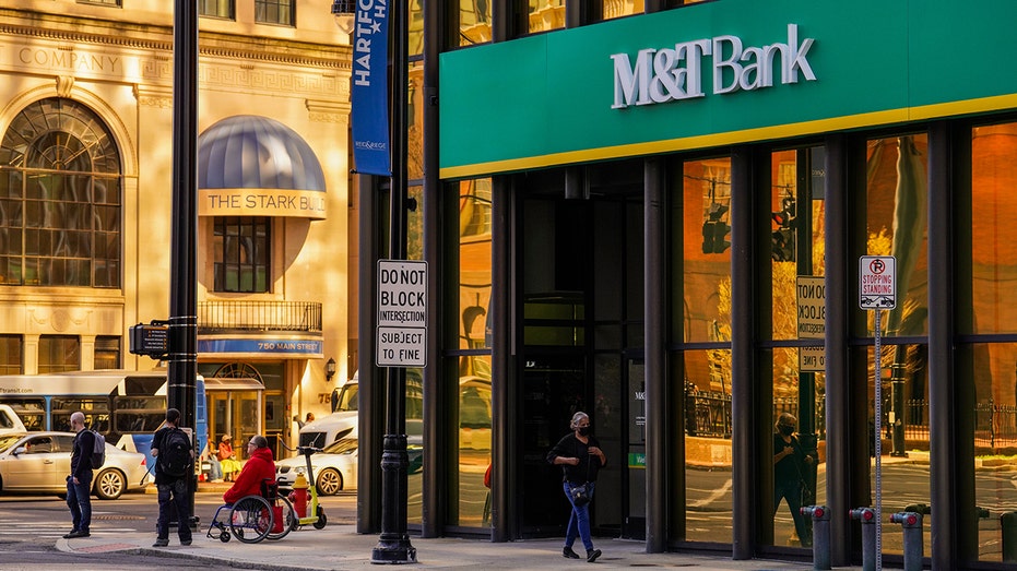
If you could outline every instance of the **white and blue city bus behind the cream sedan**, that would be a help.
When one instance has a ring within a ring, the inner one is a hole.
[[[166,419],[166,369],[98,370],[45,374],[0,374],[0,404],[10,406],[28,431],[70,431],[81,411],[85,427],[117,448],[141,452],[150,466],[152,435]],[[194,435],[197,450],[209,438],[204,379],[198,376]]]

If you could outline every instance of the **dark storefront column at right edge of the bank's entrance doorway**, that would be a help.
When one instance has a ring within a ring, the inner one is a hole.
[[[664,255],[667,221],[664,192],[665,165],[660,158],[643,163],[643,217],[646,234],[646,428],[647,428],[647,552],[667,548],[667,382],[666,382],[666,276]],[[677,433],[677,432],[671,432]]]

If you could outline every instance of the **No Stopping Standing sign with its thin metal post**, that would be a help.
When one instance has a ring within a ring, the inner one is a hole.
[[[897,307],[897,258],[892,255],[863,255],[859,259],[859,307],[872,309],[875,314],[874,440],[876,454],[876,571],[883,569],[883,352],[880,346],[882,310]]]

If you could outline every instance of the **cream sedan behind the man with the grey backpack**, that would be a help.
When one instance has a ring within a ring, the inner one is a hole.
[[[31,432],[0,436],[0,492],[67,495],[73,432]],[[92,492],[115,500],[144,487],[145,455],[106,443],[106,463],[92,477]]]

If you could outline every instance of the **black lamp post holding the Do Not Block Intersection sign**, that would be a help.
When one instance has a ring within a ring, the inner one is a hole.
[[[406,33],[409,2],[389,4],[389,116],[392,175],[389,188],[389,259],[406,259]],[[332,15],[347,34],[355,29],[355,0],[333,0]],[[416,548],[406,533],[406,369],[389,367],[386,384],[385,444],[381,454],[381,535],[371,563],[415,563]]]

